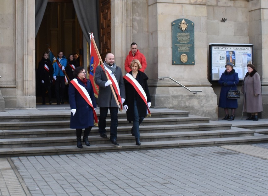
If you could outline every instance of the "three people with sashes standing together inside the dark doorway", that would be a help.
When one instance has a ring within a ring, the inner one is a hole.
[[[48,95],[49,105],[52,105],[51,86],[53,83],[55,84],[57,105],[64,104],[64,98],[68,100],[68,80],[71,81],[74,79],[73,71],[79,66],[78,53],[70,54],[68,59],[63,55],[63,51],[58,52],[57,59],[49,59],[48,53],[43,53],[43,57],[38,64],[36,75],[40,86],[43,105],[46,105],[46,93]]]

